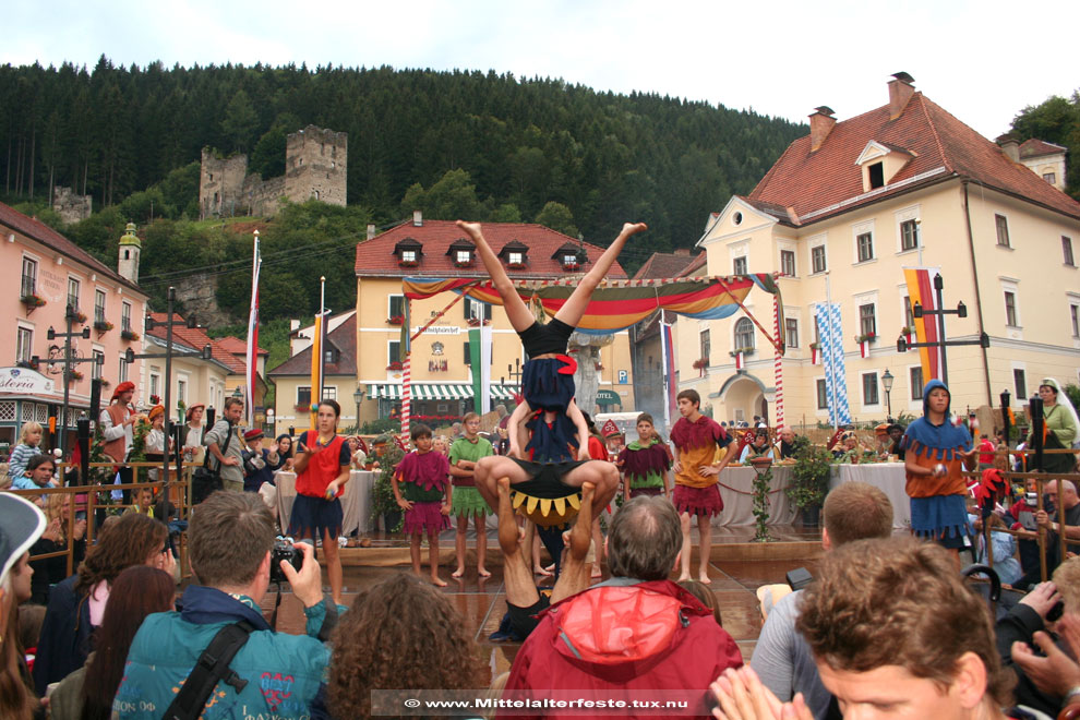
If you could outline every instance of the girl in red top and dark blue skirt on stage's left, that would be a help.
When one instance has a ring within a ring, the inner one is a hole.
[[[323,541],[326,553],[326,575],[329,577],[331,596],[341,602],[341,559],[337,536],[341,533],[341,502],[338,500],[349,481],[349,444],[337,434],[337,419],[341,406],[336,400],[321,400],[315,424],[297,439],[297,500],[289,518],[289,535],[298,539],[315,538]]]

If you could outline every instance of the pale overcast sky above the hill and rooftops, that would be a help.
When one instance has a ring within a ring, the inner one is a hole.
[[[99,7],[95,7],[99,5]],[[656,92],[803,121],[888,101],[895,72],[993,139],[1080,87],[1080,2],[79,0],[4,10],[0,63],[307,62],[468,69]]]

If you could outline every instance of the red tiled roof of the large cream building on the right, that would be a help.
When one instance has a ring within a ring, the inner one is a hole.
[[[913,157],[889,185],[860,197],[862,169],[855,159],[872,140],[904,148]],[[791,208],[795,224],[805,225],[923,183],[960,177],[1080,218],[1080,203],[1009,160],[1000,147],[922,93],[912,95],[895,120],[889,119],[889,106],[885,105],[838,122],[816,152],[809,148],[809,135],[791,143],[747,200]],[[921,177],[934,171],[937,173]],[[892,187],[905,180],[907,184]]]

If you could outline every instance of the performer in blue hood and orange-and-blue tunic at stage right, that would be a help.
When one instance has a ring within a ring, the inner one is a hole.
[[[911,497],[911,529],[935,540],[960,557],[964,537],[972,535],[968,524],[968,483],[963,466],[974,467],[979,453],[971,433],[949,419],[952,397],[940,380],[923,388],[923,417],[903,435],[907,492]]]

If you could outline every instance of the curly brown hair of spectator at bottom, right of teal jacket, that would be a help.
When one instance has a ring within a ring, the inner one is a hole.
[[[328,697],[336,718],[370,717],[372,689],[473,689],[489,682],[461,615],[411,575],[357,596],[335,629]]]

